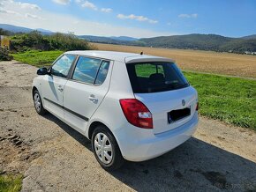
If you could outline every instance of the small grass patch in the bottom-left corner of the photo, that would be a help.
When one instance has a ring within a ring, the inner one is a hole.
[[[0,175],[0,191],[1,192],[16,192],[20,191],[22,176]]]

